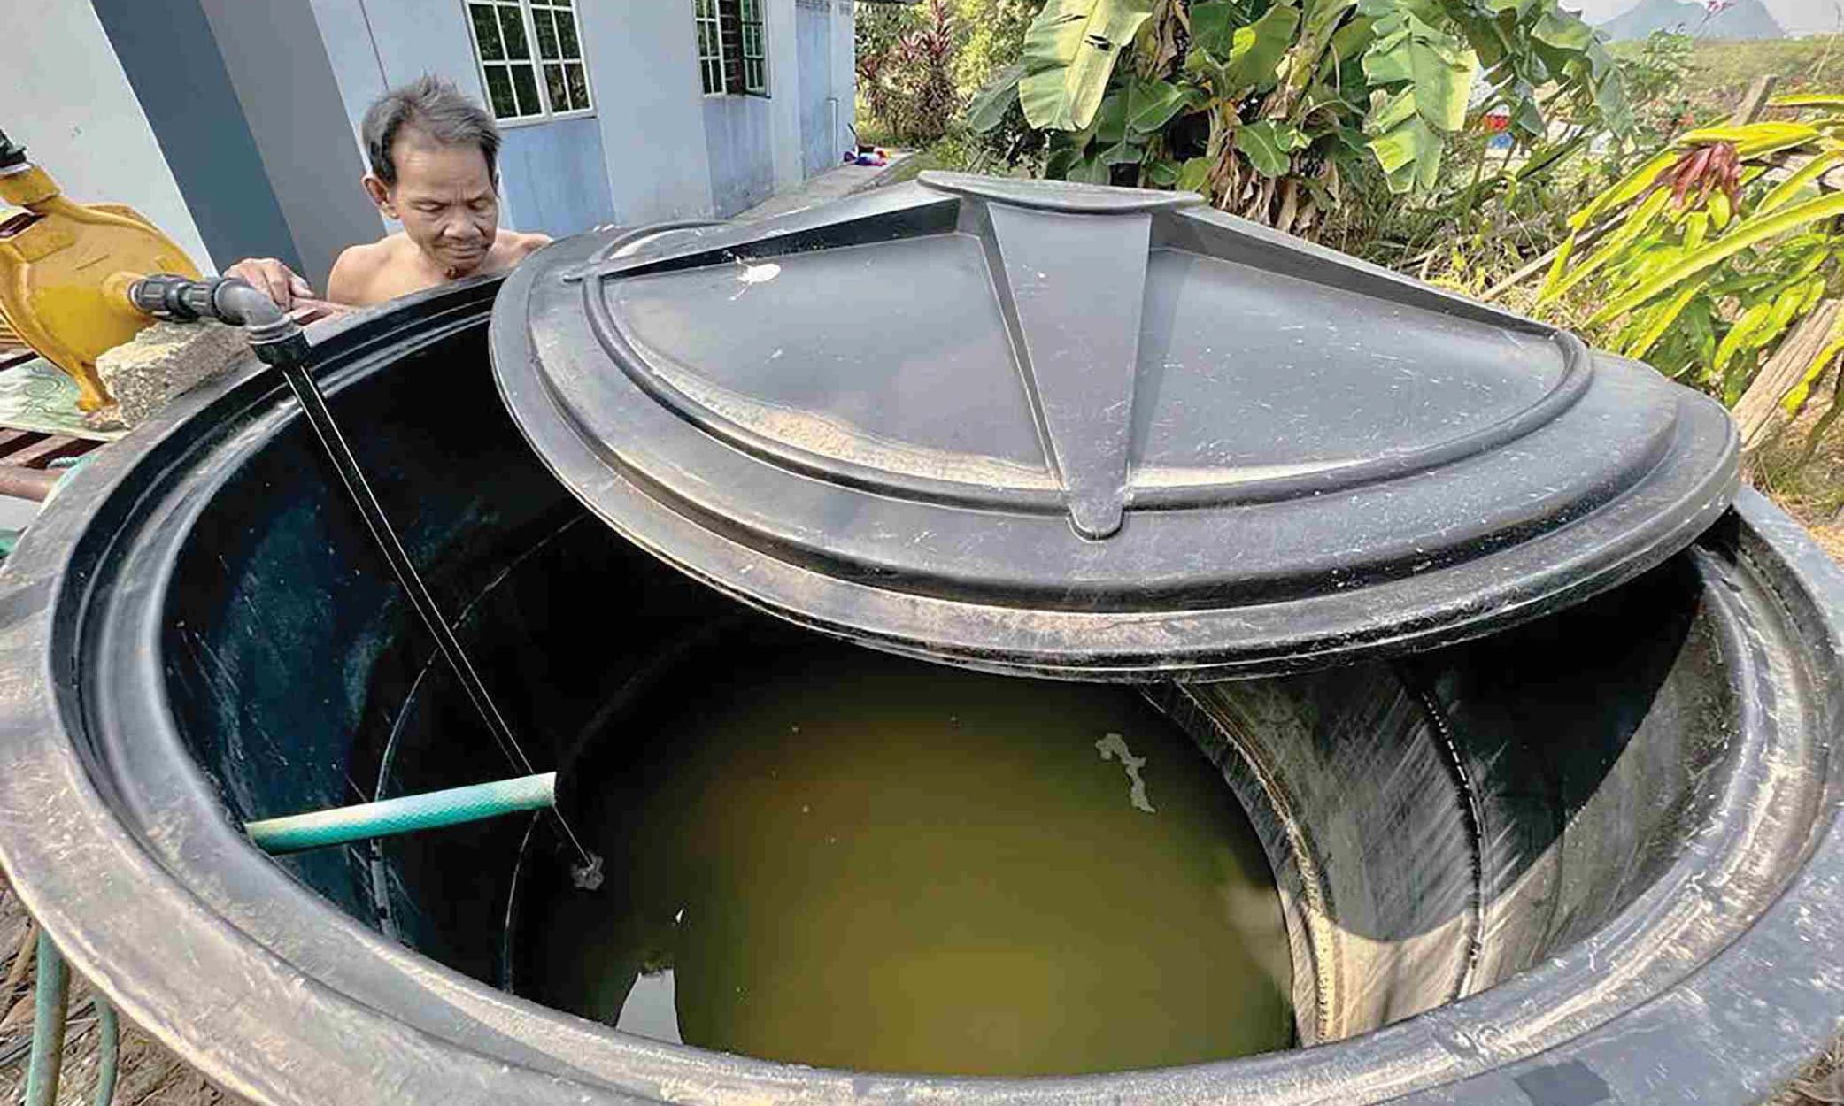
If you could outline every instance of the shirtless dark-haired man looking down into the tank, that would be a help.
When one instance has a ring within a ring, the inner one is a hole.
[[[500,229],[500,129],[448,81],[420,77],[365,111],[365,192],[404,229],[347,247],[326,276],[326,299],[363,308],[476,273],[500,273],[546,245],[544,234]],[[312,300],[308,282],[275,258],[225,271],[266,289],[282,308]]]

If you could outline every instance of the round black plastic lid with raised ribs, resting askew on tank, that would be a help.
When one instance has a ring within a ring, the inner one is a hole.
[[[579,236],[507,280],[492,356],[559,479],[666,562],[1016,673],[1477,636],[1658,564],[1737,487],[1709,398],[1189,194],[924,173]]]

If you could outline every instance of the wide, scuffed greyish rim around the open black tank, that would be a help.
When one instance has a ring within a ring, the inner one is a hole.
[[[328,352],[328,383],[376,371],[393,343],[443,319],[485,323],[496,289],[496,278],[476,280],[337,323],[317,335]],[[800,1097],[1064,1106],[1235,1093],[1239,1100],[1247,1095],[1280,1104],[1342,1097],[1355,1077],[1372,1080],[1363,1100],[1429,1106],[1547,1106],[1573,1099],[1545,1088],[1593,1084],[1612,1084],[1614,1100],[1674,1102],[1680,1095],[1673,1088],[1696,1086],[1704,1100],[1744,1102],[1791,1078],[1844,1023],[1844,973],[1826,962],[1826,949],[1844,938],[1844,922],[1829,909],[1844,890],[1844,841],[1835,833],[1840,815],[1833,798],[1840,765],[1829,756],[1818,783],[1826,789],[1822,813],[1800,870],[1778,900],[1661,990],[1634,1005],[1580,1010],[1578,1030],[1532,1053],[1503,1047],[1486,1027],[1556,1006],[1558,981],[1593,979],[1591,938],[1479,995],[1302,1053],[994,1080],[822,1071],[618,1034],[500,994],[387,942],[247,844],[242,857],[229,861],[267,868],[269,898],[251,903],[247,916],[230,918],[183,883],[160,853],[212,848],[197,837],[210,822],[221,835],[240,835],[221,807],[173,811],[166,824],[151,828],[159,841],[124,822],[112,806],[120,798],[111,794],[116,783],[77,730],[92,673],[79,653],[61,654],[59,643],[100,632],[90,601],[96,570],[120,553],[131,527],[160,522],[155,507],[166,505],[160,488],[171,490],[173,468],[214,433],[234,435],[262,415],[277,424],[291,418],[284,393],[249,363],[183,398],[72,476],[0,571],[7,610],[0,619],[0,658],[9,673],[0,702],[0,861],[77,971],[186,1062],[254,1102],[319,1102],[328,1088],[341,1088],[347,1102],[491,1095],[496,1102]],[[1813,669],[1811,723],[1816,739],[1829,743],[1840,673],[1818,665],[1837,665],[1844,656],[1844,571],[1752,490],[1737,498],[1732,518],[1739,524],[1743,564],[1779,595],[1779,632],[1798,641]],[[177,538],[168,533],[164,540]],[[107,573],[100,579],[107,581]],[[171,728],[166,717],[149,724]],[[197,772],[192,761],[186,769]],[[140,922],[149,914],[166,925],[149,931]],[[448,1029],[431,1029],[430,1016],[413,1005],[385,1010],[328,982],[330,933],[415,971],[420,994],[454,1005]],[[1813,970],[1796,981],[1776,979],[1774,992],[1763,995],[1763,968],[1783,971],[1792,960]],[[212,981],[205,994],[201,977]],[[509,1060],[511,1045],[526,1056]],[[1632,1071],[1637,1047],[1647,1049],[1645,1071]],[[378,1075],[385,1067],[387,1082]],[[1578,1082],[1584,1078],[1591,1082]],[[1645,1088],[1669,1097],[1636,1097]]]

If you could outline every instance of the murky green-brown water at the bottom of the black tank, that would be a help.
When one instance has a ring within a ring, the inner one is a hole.
[[[518,990],[826,1067],[1119,1071],[1291,1043],[1272,876],[1125,688],[813,641],[666,686],[579,769],[596,894],[533,887]]]

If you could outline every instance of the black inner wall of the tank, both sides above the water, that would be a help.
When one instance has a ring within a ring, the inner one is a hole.
[[[570,758],[662,641],[736,610],[586,518],[551,479],[494,393],[483,323],[352,382],[332,406],[540,771]],[[1689,846],[1730,771],[1733,724],[1728,645],[1702,603],[1687,555],[1466,647],[1149,689],[1263,833],[1293,929],[1302,1041],[1554,955]],[[223,476],[181,551],[164,627],[170,708],[236,818],[513,774],[299,424]],[[566,806],[570,785],[566,774]],[[502,982],[529,826],[502,818],[282,863],[365,924]]]

